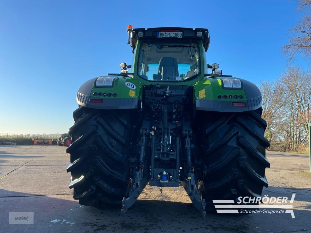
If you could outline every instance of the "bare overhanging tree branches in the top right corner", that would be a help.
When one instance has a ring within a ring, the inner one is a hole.
[[[289,43],[282,50],[290,60],[293,60],[296,53],[311,60],[311,0],[300,0],[298,11],[303,11],[304,16],[290,30]]]

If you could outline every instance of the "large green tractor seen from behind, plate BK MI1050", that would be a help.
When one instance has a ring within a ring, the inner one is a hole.
[[[270,163],[256,85],[207,64],[207,29],[127,32],[132,66],[120,63],[119,74],[77,92],[67,148],[73,198],[119,205],[124,216],[148,182],[182,185],[205,217],[213,200],[261,196]]]

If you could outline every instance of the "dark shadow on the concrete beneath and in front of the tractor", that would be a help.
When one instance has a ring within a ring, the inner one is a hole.
[[[1,190],[0,190],[1,191]],[[290,193],[286,188],[269,187],[267,192]],[[298,190],[297,199],[305,190]],[[202,220],[200,212],[190,203],[160,200],[137,200],[121,215],[117,208],[96,209],[82,206],[72,195],[27,196],[0,198],[0,219],[3,232],[284,232],[311,230],[311,211],[294,210],[290,214],[211,214]],[[269,194],[270,195],[270,194]],[[277,196],[277,195],[276,195]],[[288,195],[290,197],[290,195]],[[8,224],[9,211],[33,211],[34,224]]]

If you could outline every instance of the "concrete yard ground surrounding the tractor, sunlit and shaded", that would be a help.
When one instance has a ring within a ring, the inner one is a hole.
[[[0,232],[311,232],[309,156],[267,152],[263,195],[296,193],[290,213],[210,214],[200,218],[183,188],[147,185],[127,217],[120,209],[81,206],[68,188],[69,156],[59,146],[0,146]],[[9,224],[10,211],[34,212],[34,224]]]

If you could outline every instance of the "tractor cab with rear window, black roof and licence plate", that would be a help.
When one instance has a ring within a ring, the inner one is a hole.
[[[204,73],[209,46],[207,29],[138,28],[128,25],[128,43],[135,53],[133,72],[144,80],[182,82]]]

